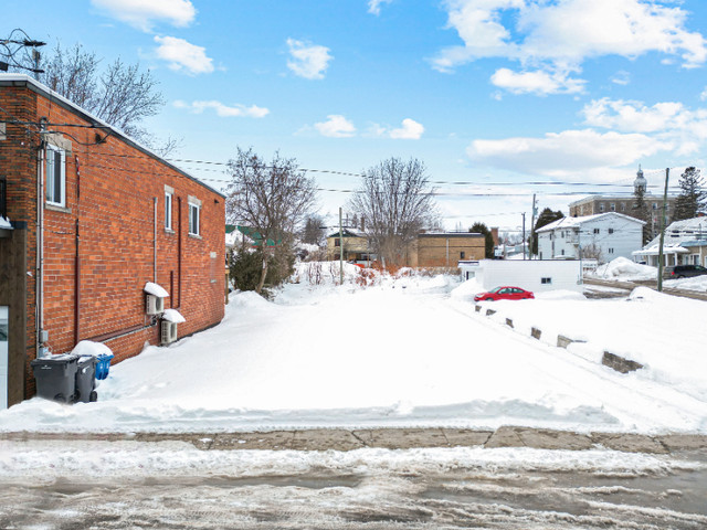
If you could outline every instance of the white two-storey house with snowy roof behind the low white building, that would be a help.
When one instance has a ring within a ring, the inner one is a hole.
[[[609,212],[581,218],[562,218],[538,230],[540,259],[578,259],[610,262],[619,256],[632,258],[641,248],[645,222]]]

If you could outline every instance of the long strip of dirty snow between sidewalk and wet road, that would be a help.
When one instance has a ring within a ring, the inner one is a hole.
[[[382,449],[349,452],[198,451],[182,442],[6,442],[0,453],[0,478],[32,484],[115,478],[141,480],[159,475],[179,476],[340,476],[351,469],[381,473],[444,474],[466,469],[475,476],[504,474],[595,471],[620,475],[667,475],[697,470],[704,465],[659,455],[616,451],[548,451],[479,447]]]

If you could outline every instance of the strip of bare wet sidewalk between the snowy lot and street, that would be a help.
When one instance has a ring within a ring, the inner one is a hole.
[[[621,433],[570,433],[504,426],[496,431],[457,428],[362,428],[304,430],[244,433],[0,433],[0,441],[135,441],[191,443],[202,451],[352,451],[366,447],[409,449],[415,447],[531,447],[584,451],[606,448],[629,453],[669,454],[680,451],[707,453],[707,435],[641,435]]]

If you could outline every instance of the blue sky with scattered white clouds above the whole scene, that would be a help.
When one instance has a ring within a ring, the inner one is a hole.
[[[168,103],[146,125],[182,138],[173,158],[416,157],[447,229],[529,226],[532,193],[567,213],[595,184],[629,192],[639,165],[656,192],[705,166],[704,0],[3,0],[2,26],[151,68]],[[313,174],[341,190],[320,193],[334,222],[358,179]]]

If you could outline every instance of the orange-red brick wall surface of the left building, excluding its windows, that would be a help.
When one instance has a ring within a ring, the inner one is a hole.
[[[0,87],[0,95],[2,107],[9,105],[23,119],[89,124],[81,112],[28,87]],[[145,314],[146,282],[157,282],[167,289],[166,307],[178,309],[187,319],[179,325],[179,337],[218,324],[224,310],[223,198],[117,135],[96,144],[96,135],[105,136],[102,129],[49,128],[71,142],[65,208],[48,205],[44,212],[44,329],[51,350],[61,353],[77,340],[101,340],[119,361],[139,353],[146,342],[158,343],[159,326]],[[3,168],[21,162],[17,170],[6,172],[9,214],[13,221],[27,220],[31,225],[36,218],[39,135],[30,134],[22,145],[25,132],[20,127],[9,126],[8,132],[11,148],[2,146],[0,162]],[[165,229],[166,186],[173,189],[172,231]],[[188,233],[189,197],[201,201],[199,236]],[[28,235],[28,273],[32,273],[36,233],[32,229]],[[28,354],[32,359],[35,296],[34,282],[30,283]],[[118,337],[108,338],[114,335]],[[27,375],[31,392],[29,369]]]

